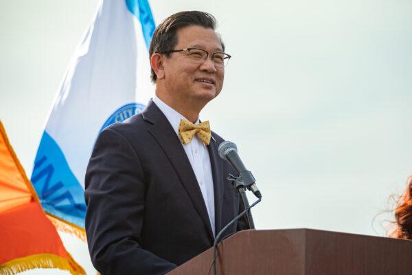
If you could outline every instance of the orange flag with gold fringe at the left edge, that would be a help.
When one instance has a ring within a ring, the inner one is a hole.
[[[86,274],[43,212],[0,121],[0,275],[33,268]]]

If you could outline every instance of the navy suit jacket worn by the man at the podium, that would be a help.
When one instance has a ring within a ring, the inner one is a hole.
[[[214,180],[216,234],[243,210],[227,180],[236,175],[207,146]],[[213,245],[201,189],[165,115],[151,100],[141,113],[100,133],[87,167],[86,232],[96,270],[165,274]],[[224,235],[247,229],[241,219]]]

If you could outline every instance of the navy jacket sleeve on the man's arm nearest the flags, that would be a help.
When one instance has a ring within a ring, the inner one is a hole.
[[[145,179],[139,156],[113,129],[100,133],[84,197],[91,261],[101,274],[165,274],[176,265],[141,248]]]

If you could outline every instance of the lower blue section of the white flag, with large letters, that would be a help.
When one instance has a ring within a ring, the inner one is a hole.
[[[84,190],[46,131],[38,146],[31,180],[45,211],[84,228]]]

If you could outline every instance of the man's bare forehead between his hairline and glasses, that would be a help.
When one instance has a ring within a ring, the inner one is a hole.
[[[200,47],[205,50],[222,50],[216,32],[211,28],[191,25],[177,30],[176,48]]]

